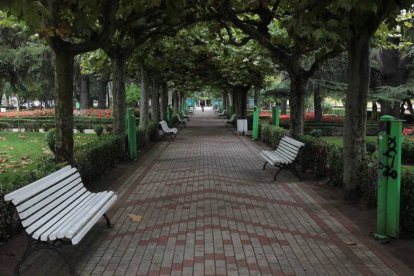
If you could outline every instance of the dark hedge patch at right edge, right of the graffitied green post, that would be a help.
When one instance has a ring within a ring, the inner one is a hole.
[[[401,176],[401,230],[414,233],[414,172],[402,171]]]

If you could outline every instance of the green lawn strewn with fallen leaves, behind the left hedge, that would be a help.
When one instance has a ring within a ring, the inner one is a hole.
[[[75,148],[97,139],[95,134],[74,134]],[[52,154],[45,133],[0,131],[0,184],[11,181],[20,171],[34,168],[42,155]]]

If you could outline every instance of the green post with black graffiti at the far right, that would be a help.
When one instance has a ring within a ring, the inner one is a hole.
[[[380,118],[386,131],[379,134],[378,207],[375,238],[397,238],[400,228],[402,120]]]

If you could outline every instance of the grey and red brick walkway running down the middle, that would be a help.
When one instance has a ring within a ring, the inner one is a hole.
[[[81,275],[411,274],[305,183],[287,172],[272,182],[259,150],[198,111],[114,184],[114,228],[102,220],[66,252]],[[67,267],[41,252],[22,272]]]

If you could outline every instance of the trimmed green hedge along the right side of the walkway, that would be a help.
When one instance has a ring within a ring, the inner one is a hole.
[[[269,124],[261,125],[261,139],[272,149],[279,144],[280,139],[288,135],[288,131]],[[337,187],[343,187],[343,147],[333,145],[325,140],[309,135],[301,135],[297,138],[305,143],[305,147],[299,155],[299,163],[302,170],[311,170],[316,177],[325,178]],[[405,139],[403,142],[403,156],[405,161],[413,158],[412,150],[414,142]],[[369,206],[376,206],[378,157],[376,143],[367,143],[367,156],[363,167],[358,172],[362,181],[361,193]],[[410,157],[408,157],[410,155]],[[401,219],[402,231],[414,234],[414,172],[403,170],[401,176]]]

